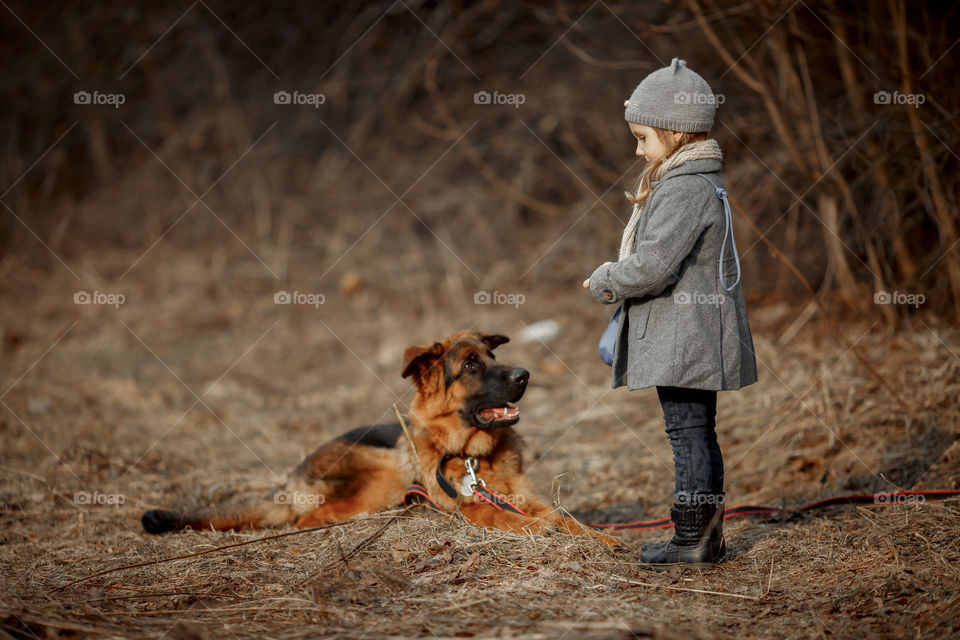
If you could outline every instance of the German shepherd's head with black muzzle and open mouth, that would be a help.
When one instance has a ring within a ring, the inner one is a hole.
[[[429,346],[409,347],[403,377],[417,385],[415,405],[428,417],[456,417],[460,426],[493,430],[520,420],[516,403],[530,373],[502,365],[493,350],[506,336],[462,331]]]

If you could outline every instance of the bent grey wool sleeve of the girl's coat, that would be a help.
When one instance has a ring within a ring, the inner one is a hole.
[[[679,279],[684,259],[709,226],[704,211],[716,196],[703,178],[677,176],[657,191],[644,212],[650,217],[636,250],[626,260],[598,267],[590,276],[590,293],[597,302],[614,304],[624,298],[658,295]]]

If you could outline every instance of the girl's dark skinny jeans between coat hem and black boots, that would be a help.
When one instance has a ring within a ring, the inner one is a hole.
[[[657,387],[673,448],[674,500],[723,493],[723,454],[717,444],[717,392]]]

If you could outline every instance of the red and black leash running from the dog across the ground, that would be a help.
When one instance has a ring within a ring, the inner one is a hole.
[[[518,509],[513,504],[507,502],[500,496],[497,496],[494,493],[490,493],[484,489],[484,492],[488,493],[492,498],[483,495],[483,493],[474,491],[474,493],[480,498],[486,500],[493,506],[498,509],[506,508],[509,511],[514,511],[515,513],[520,513],[526,515]],[[916,504],[923,503],[927,500],[944,500],[947,498],[960,496],[960,489],[942,489],[942,490],[931,490],[931,491],[894,491],[891,493],[863,493],[863,494],[849,494],[843,496],[835,496],[833,498],[824,498],[822,500],[817,500],[816,502],[811,502],[810,504],[804,505],[802,507],[796,507],[793,509],[786,509],[782,507],[769,507],[765,505],[753,505],[753,504],[741,504],[735,507],[731,507],[724,511],[723,517],[727,518],[739,518],[742,516],[756,516],[756,515],[781,515],[787,516],[795,513],[803,513],[805,511],[814,511],[816,509],[823,509],[826,507],[833,507],[836,505],[843,504],[870,504],[877,507],[889,507],[896,504]],[[407,492],[403,496],[403,504],[411,505],[415,503],[426,503],[437,511],[443,511],[433,498],[430,497],[430,494],[427,493],[427,490],[420,486],[419,484],[412,484],[407,487]],[[636,522],[610,522],[605,524],[590,524],[589,527],[594,527],[596,529],[606,529],[611,532],[620,532],[620,531],[642,531],[645,529],[665,529],[667,527],[672,527],[673,522],[670,518],[659,518],[657,520],[637,520]]]

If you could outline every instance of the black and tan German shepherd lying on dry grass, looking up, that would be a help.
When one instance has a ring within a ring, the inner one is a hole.
[[[400,505],[417,483],[440,508],[469,522],[504,531],[559,529],[589,535],[607,546],[615,538],[564,517],[537,494],[523,474],[516,403],[530,374],[499,364],[493,350],[502,335],[463,331],[429,346],[409,347],[403,377],[417,393],[401,423],[359,427],[321,446],[290,474],[272,498],[240,498],[210,513],[153,510],[149,533],[282,525],[314,527]]]

